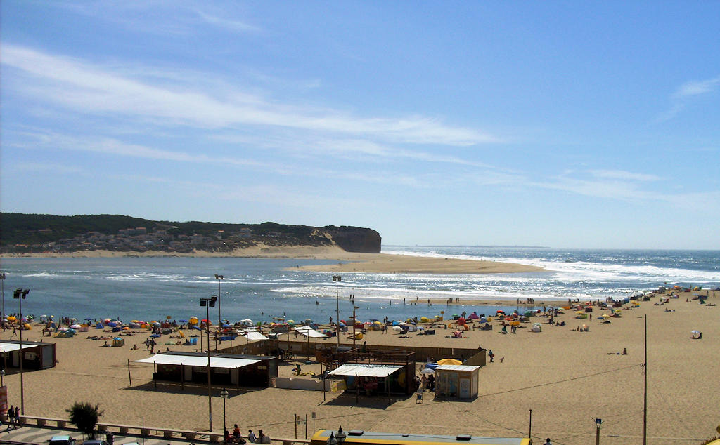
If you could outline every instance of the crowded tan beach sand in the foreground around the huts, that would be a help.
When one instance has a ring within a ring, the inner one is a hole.
[[[540,333],[523,324],[517,334],[467,331],[462,339],[449,339],[451,330],[440,329],[435,336],[410,333],[400,338],[390,331],[369,331],[364,341],[374,344],[469,347],[482,345],[495,352],[495,362],[480,370],[480,395],[470,402],[433,400],[424,403],[415,397],[394,400],[341,397],[305,390],[266,388],[235,395],[227,400],[227,423],[238,423],[243,434],[248,428],[264,429],[271,437],[294,437],[294,415],[317,419],[313,427],[345,430],[413,432],[428,434],[468,433],[473,436],[527,436],[529,410],[535,443],[551,437],[556,444],[588,444],[595,437],[595,418],[602,418],[603,444],[637,444],[642,437],[644,316],[647,315],[648,342],[648,435],[651,444],[696,443],[686,439],[707,439],[720,423],[720,325],[718,306],[686,302],[682,294],[665,306],[654,306],[658,298],[639,308],[623,311],[610,324],[576,320],[575,311],[565,311],[557,321],[567,326],[552,327],[547,318]],[[708,303],[717,303],[717,297]],[[668,308],[672,311],[668,312]],[[523,308],[520,308],[521,312]],[[478,308],[482,312],[482,307]],[[312,316],[312,314],[308,314]],[[360,318],[361,319],[361,314]],[[495,321],[494,321],[495,323]],[[590,331],[572,331],[588,324]],[[703,332],[703,339],[690,339],[690,331]],[[66,408],[75,401],[98,403],[102,421],[166,428],[207,431],[207,392],[195,393],[153,388],[152,365],[131,363],[132,385],[128,381],[128,359],[149,356],[142,344],[147,331],[125,336],[125,347],[102,347],[104,341],[87,339],[98,334],[79,333],[74,338],[42,337],[40,327],[24,331],[24,339],[57,344],[57,366],[50,370],[24,373],[25,413],[30,416],[67,418]],[[1,334],[9,339],[12,331]],[[105,334],[112,335],[112,334]],[[17,336],[14,337],[17,339]],[[168,341],[167,336],[161,338]],[[334,339],[325,340],[335,344]],[[320,341],[322,342],[322,341]],[[343,340],[346,343],[347,340]],[[194,351],[197,347],[159,344],[164,351]],[[131,350],[138,344],[138,350]],[[190,349],[192,348],[192,349]],[[627,355],[616,354],[627,348]],[[503,362],[500,358],[503,357]],[[442,357],[436,357],[437,359]],[[292,375],[294,364],[282,364],[280,375]],[[304,371],[320,372],[320,365],[302,365]],[[9,403],[17,405],[19,374],[12,369],[4,377]],[[222,399],[215,389],[212,398],[214,428],[222,428]],[[305,437],[305,426],[298,426]]]

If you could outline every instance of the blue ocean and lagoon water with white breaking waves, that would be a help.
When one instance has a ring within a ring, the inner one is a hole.
[[[720,251],[583,250],[501,247],[388,246],[384,253],[517,262],[544,267],[546,272],[490,275],[360,274],[343,273],[333,283],[329,272],[297,270],[298,265],[323,260],[253,258],[72,258],[1,260],[6,272],[6,313],[17,313],[15,288],[30,289],[22,302],[24,315],[175,320],[190,316],[216,321],[250,318],[254,322],[286,316],[294,321],[311,318],[328,322],[352,314],[355,297],[360,320],[404,319],[477,311],[495,313],[516,308],[516,301],[624,298],[669,285],[720,286]],[[220,305],[199,306],[200,298],[218,293]],[[337,292],[337,295],[336,295]],[[337,300],[336,300],[337,298]],[[460,301],[485,299],[498,306],[471,303],[428,306],[428,298]],[[410,304],[416,303],[416,304]]]

